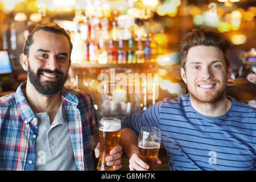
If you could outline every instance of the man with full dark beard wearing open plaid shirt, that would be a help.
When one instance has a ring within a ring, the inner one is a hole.
[[[100,155],[92,97],[64,88],[72,43],[56,23],[39,24],[22,54],[27,81],[0,98],[0,170],[93,170]],[[96,146],[97,145],[97,146]],[[108,166],[121,168],[122,147]]]

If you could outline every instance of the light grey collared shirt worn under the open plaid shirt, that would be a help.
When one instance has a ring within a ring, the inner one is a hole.
[[[57,111],[52,125],[48,113],[38,113],[36,116],[39,132],[38,136],[33,136],[36,137],[34,170],[77,170],[63,105]]]

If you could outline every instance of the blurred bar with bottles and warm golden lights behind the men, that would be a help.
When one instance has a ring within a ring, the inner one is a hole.
[[[0,49],[9,53],[11,72],[0,71],[0,96],[15,92],[26,80],[20,55],[32,28],[56,22],[73,43],[65,86],[92,94],[99,117],[122,118],[164,97],[186,94],[179,41],[193,28],[213,27],[232,42],[233,74],[227,94],[255,106],[255,82],[246,78],[255,73],[256,65],[255,5],[254,0],[1,0]],[[8,58],[1,56],[0,67],[5,68]],[[141,88],[138,97],[123,88],[98,92],[99,85],[108,86],[98,76],[111,77],[113,68],[115,74],[151,74],[152,80],[140,77],[134,83]],[[150,90],[157,90],[158,97]]]

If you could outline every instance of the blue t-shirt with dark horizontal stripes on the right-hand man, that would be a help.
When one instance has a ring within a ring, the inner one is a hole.
[[[158,127],[171,170],[255,170],[256,109],[227,98],[232,106],[220,117],[198,113],[189,94],[165,98],[123,118],[122,128]]]

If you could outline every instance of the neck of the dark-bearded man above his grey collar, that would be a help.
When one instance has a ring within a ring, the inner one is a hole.
[[[29,81],[27,81],[26,89],[23,90],[23,92],[28,105],[30,105],[34,113],[55,113],[59,110],[61,105],[60,92],[53,96],[44,96],[40,94]]]

